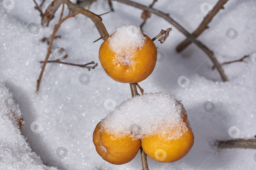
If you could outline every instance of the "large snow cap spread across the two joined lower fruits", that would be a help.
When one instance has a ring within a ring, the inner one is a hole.
[[[188,130],[181,101],[166,92],[144,93],[124,101],[101,120],[101,127],[118,136],[135,139],[161,134],[168,140],[180,138]]]

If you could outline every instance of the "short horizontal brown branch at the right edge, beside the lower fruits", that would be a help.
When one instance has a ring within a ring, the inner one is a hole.
[[[218,147],[222,149],[227,148],[244,148],[244,149],[256,149],[256,139],[235,139],[218,141]]]

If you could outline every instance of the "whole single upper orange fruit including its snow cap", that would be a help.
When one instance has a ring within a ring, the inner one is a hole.
[[[141,82],[155,68],[157,49],[153,41],[135,25],[122,26],[121,31],[117,29],[101,44],[101,66],[117,82]]]

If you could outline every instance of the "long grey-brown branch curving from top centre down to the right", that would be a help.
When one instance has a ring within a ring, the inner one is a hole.
[[[220,63],[216,59],[213,51],[211,51],[203,43],[198,41],[195,36],[191,35],[188,31],[186,31],[178,22],[176,22],[174,19],[169,17],[169,14],[165,14],[162,11],[159,11],[157,9],[149,8],[147,6],[144,6],[142,4],[139,4],[139,3],[136,3],[136,2],[132,2],[132,1],[129,1],[129,0],[116,0],[116,1],[121,2],[121,3],[125,3],[127,5],[131,5],[131,6],[135,7],[135,8],[138,8],[138,9],[147,10],[147,11],[149,11],[151,13],[154,13],[154,14],[162,17],[163,19],[167,20],[169,23],[174,25],[180,32],[182,32],[187,38],[189,38],[190,41],[195,43],[199,48],[201,48],[207,54],[207,56],[211,59],[213,64],[216,66],[216,68],[217,68],[219,74],[221,75],[221,78],[222,78],[223,81],[227,81],[228,80],[227,76],[225,75],[225,73],[224,73],[224,71],[222,69],[222,66],[220,65]]]

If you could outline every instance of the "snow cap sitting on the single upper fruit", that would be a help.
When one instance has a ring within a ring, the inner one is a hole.
[[[116,53],[116,60],[123,65],[135,65],[133,53],[144,46],[144,37],[138,25],[121,25],[108,39],[110,48]]]

